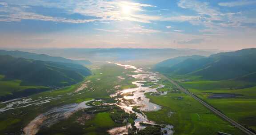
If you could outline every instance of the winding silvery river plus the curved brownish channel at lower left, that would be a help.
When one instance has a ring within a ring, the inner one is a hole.
[[[108,62],[111,63],[111,62]],[[117,64],[117,63],[112,63],[116,64],[119,66],[124,67],[125,69],[131,68],[134,69],[137,73],[137,75],[131,75],[133,78],[135,78],[137,81],[132,82],[135,84],[137,87],[136,88],[130,88],[130,89],[125,89],[122,91],[117,91],[115,94],[110,95],[111,97],[116,97],[117,95],[124,95],[128,93],[128,96],[124,96],[122,98],[117,98],[119,102],[116,103],[117,106],[122,108],[124,111],[128,113],[135,113],[137,116],[137,119],[134,121],[135,126],[138,129],[143,129],[146,126],[142,126],[140,123],[147,123],[151,125],[156,125],[155,122],[148,120],[147,116],[144,115],[142,111],[158,111],[161,109],[161,107],[155,103],[150,103],[149,99],[146,98],[144,95],[147,92],[157,92],[156,89],[160,87],[164,87],[164,85],[159,85],[157,84],[158,87],[156,88],[151,88],[151,87],[142,87],[143,81],[147,82],[152,82],[156,83],[159,80],[157,79],[157,74],[149,71],[143,71],[142,69],[139,69],[137,67],[131,66],[131,65],[122,65],[122,64]],[[132,101],[127,103],[127,100]],[[76,111],[79,111],[81,109],[89,108],[90,106],[86,105],[86,103],[91,102],[93,100],[89,101],[84,101],[82,103],[74,103],[74,104],[68,104],[62,107],[56,107],[53,108],[52,110],[45,112],[44,114],[41,114],[37,116],[35,119],[33,119],[26,127],[24,127],[24,135],[36,135],[36,133],[40,130],[40,127],[42,126],[47,126],[50,127],[53,124],[57,123],[61,119],[66,119]],[[133,107],[138,107],[141,111],[141,113],[133,111]],[[128,127],[131,127],[131,125],[127,125]],[[116,127],[112,128],[111,130],[108,131],[109,134],[111,135],[124,135],[127,134],[127,126],[124,127]],[[162,131],[164,135],[172,135],[173,131],[172,125],[161,125],[162,126]]]

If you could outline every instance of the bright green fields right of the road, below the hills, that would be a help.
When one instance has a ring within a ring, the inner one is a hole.
[[[256,87],[248,87],[253,86],[253,83],[242,81],[200,81],[182,82],[180,84],[228,115],[228,117],[246,127],[256,129]],[[232,98],[209,98],[213,94],[238,94],[238,96]]]

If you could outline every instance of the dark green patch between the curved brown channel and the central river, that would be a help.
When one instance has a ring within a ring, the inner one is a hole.
[[[43,128],[38,135],[108,135],[109,129],[125,126],[134,119],[134,114],[129,115],[119,107],[93,107],[78,111],[52,127]]]

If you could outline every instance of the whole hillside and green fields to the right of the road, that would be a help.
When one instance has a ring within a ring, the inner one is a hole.
[[[256,48],[187,59],[160,71],[231,119],[256,129]]]

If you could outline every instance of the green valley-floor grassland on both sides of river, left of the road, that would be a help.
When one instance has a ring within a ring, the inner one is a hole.
[[[39,106],[32,105],[1,113],[0,134],[20,134],[20,129],[25,127],[36,116],[54,107],[69,103],[80,103],[94,98],[110,98],[109,95],[116,91],[128,87],[136,87],[132,84],[136,80],[131,76],[127,76],[128,74],[135,74],[132,69],[124,69],[124,67],[115,64],[90,65],[90,69],[93,75],[86,77],[81,83],[30,96],[32,99],[38,99],[39,97],[50,96],[53,98],[61,95],[60,99],[52,100]],[[86,83],[87,87],[80,91],[81,94],[74,93],[83,83]],[[178,91],[176,87],[173,87],[172,83],[163,79],[160,79],[159,83],[166,85],[166,87],[158,89],[159,91],[170,92],[168,95],[163,96],[147,94],[151,102],[162,106],[160,111],[145,112],[150,120],[160,124],[173,125],[175,135],[216,135],[216,131],[223,131],[232,135],[243,135],[235,127],[230,126],[227,122],[212,114],[211,111],[196,100]],[[116,87],[119,85],[120,87]],[[183,99],[178,99],[178,96],[182,96]],[[0,107],[3,107],[3,105],[0,104]],[[84,124],[77,123],[77,119],[83,114],[83,111],[78,111],[70,118],[64,119],[50,128],[43,127],[44,130],[40,131],[38,135],[106,135],[106,131],[112,127],[124,125],[123,123],[114,122],[111,111],[93,114],[93,117],[84,121]],[[132,122],[133,120],[129,118],[128,121]]]

